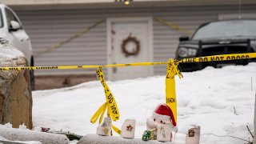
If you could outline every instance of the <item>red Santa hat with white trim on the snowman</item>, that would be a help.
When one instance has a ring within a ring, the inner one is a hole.
[[[153,117],[172,122],[172,124],[176,126],[174,113],[165,103],[161,103],[155,108]]]

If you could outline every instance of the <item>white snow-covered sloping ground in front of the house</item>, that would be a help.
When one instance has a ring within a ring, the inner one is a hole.
[[[226,66],[222,69],[183,73],[176,77],[178,134],[175,142],[185,143],[190,125],[201,126],[201,143],[246,143],[230,135],[251,140],[246,125],[253,130],[256,63]],[[146,118],[159,103],[165,102],[165,76],[107,82],[118,103],[121,118],[114,126],[121,128],[126,118],[136,119],[135,137],[146,130]],[[99,81],[58,90],[33,92],[34,126],[70,130],[76,134],[95,134],[98,123],[90,118],[105,102]],[[115,134],[117,135],[117,134]]]

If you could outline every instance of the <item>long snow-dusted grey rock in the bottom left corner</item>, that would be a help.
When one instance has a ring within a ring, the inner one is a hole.
[[[0,137],[6,138],[9,141],[38,141],[43,144],[70,143],[69,139],[64,134],[51,134],[34,130],[6,128],[2,125],[0,125]]]

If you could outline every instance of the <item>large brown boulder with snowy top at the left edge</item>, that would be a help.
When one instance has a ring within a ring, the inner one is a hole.
[[[26,57],[0,38],[0,67],[27,66]],[[32,128],[32,94],[29,70],[0,70],[0,123]]]

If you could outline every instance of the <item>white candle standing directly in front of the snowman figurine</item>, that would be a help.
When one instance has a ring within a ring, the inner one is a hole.
[[[170,124],[161,124],[158,126],[157,140],[161,142],[171,141],[172,126]]]

